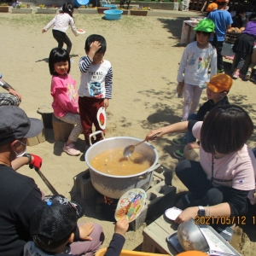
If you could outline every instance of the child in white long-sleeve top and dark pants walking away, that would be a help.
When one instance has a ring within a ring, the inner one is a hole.
[[[72,43],[66,34],[68,26],[71,26],[73,34],[76,37],[79,35],[74,25],[73,5],[71,3],[64,3],[62,7],[62,13],[55,15],[54,19],[49,21],[42,32],[47,32],[50,26],[53,26],[52,34],[55,40],[58,42],[58,47],[62,48],[63,44],[67,44],[67,53],[70,54]]]

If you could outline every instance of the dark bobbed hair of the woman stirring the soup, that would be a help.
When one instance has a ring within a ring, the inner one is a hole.
[[[215,154],[240,150],[253,134],[253,121],[236,105],[213,108],[201,126],[201,147]]]

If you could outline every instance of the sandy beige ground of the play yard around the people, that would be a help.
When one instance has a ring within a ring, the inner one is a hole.
[[[48,56],[56,46],[51,31],[42,34],[41,29],[53,15],[12,15],[0,14],[1,64],[3,78],[18,90],[23,100],[23,108],[30,116],[36,116],[41,106],[50,106],[50,75]],[[79,84],[79,58],[84,55],[84,41],[91,33],[102,34],[107,39],[108,49],[105,58],[113,66],[113,99],[108,108],[107,137],[128,136],[143,139],[150,129],[168,125],[180,120],[182,99],[175,97],[177,67],[183,53],[179,46],[182,18],[157,18],[124,16],[121,20],[103,20],[100,15],[74,15],[76,26],[86,31],[85,35],[75,38],[71,30],[67,34],[73,42],[73,64],[71,75]],[[230,63],[225,63],[226,73],[230,73]],[[79,86],[79,85],[78,85]],[[255,86],[251,82],[237,79],[230,90],[230,102],[246,108],[255,122]],[[253,100],[254,99],[254,100]],[[207,100],[205,91],[201,103]],[[174,171],[177,159],[172,152],[169,135],[154,142],[159,162]],[[249,142],[253,147],[255,133]],[[55,189],[67,198],[73,195],[73,177],[87,169],[84,158],[72,157],[61,152],[63,143],[53,140],[52,131],[44,143],[28,147],[29,153],[44,159],[42,172]],[[84,138],[79,137],[78,147],[84,151]],[[38,174],[27,166],[20,169],[35,179],[38,187],[46,195],[49,189]],[[173,176],[177,192],[184,190],[183,185]],[[81,202],[81,201],[80,201]],[[108,243],[113,234],[113,222],[97,215],[86,202],[82,202],[85,216],[79,221],[93,221],[102,224]],[[168,202],[166,202],[168,204]],[[160,212],[163,213],[163,212]],[[142,241],[143,227],[137,232],[126,234],[126,249],[138,247]],[[253,224],[236,229],[232,245],[242,255],[255,255],[256,234]]]

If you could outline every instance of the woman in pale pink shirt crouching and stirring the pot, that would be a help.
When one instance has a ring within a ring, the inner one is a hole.
[[[176,175],[189,194],[177,201],[176,207],[183,212],[175,223],[196,216],[202,217],[203,222],[204,217],[209,217],[208,223],[230,241],[229,225],[248,211],[248,195],[255,189],[256,160],[246,144],[253,134],[253,121],[243,108],[225,105],[213,108],[203,122],[189,120],[168,125],[149,131],[146,139],[149,141],[157,132],[160,134],[156,138],[183,131],[192,131],[200,140],[200,162],[177,163]],[[219,216],[224,219],[221,224]]]

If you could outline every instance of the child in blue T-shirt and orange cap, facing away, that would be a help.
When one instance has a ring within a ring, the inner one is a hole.
[[[224,44],[225,34],[233,23],[230,13],[226,10],[228,3],[229,0],[217,0],[218,9],[207,16],[207,19],[211,19],[215,24],[215,34],[209,41],[217,49],[218,73],[224,73],[223,56],[221,55],[221,51]]]

